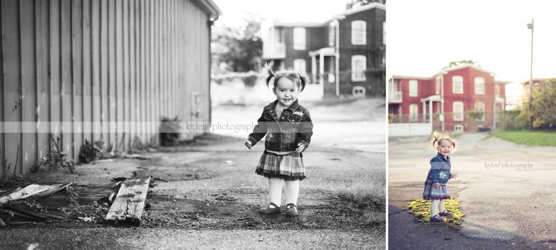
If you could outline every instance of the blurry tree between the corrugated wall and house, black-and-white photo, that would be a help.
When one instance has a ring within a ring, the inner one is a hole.
[[[245,17],[239,26],[216,26],[213,28],[211,51],[213,70],[248,72],[253,62],[261,58],[261,18]],[[216,67],[216,68],[214,68]]]

